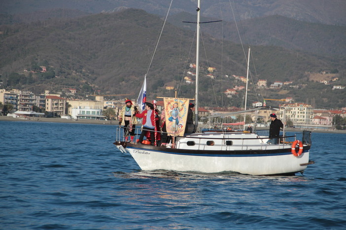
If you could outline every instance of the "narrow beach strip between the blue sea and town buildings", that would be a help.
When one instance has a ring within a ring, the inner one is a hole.
[[[79,124],[99,124],[99,125],[118,125],[119,120],[94,120],[94,119],[65,119],[65,118],[47,118],[47,117],[12,117],[0,116],[0,121],[32,121],[32,122],[55,122],[55,123],[79,123]],[[269,129],[269,127],[268,127]],[[258,129],[260,130],[260,129]],[[286,128],[288,132],[301,132],[303,130],[315,133],[341,133],[346,134],[346,130],[318,130],[318,129],[294,129]]]

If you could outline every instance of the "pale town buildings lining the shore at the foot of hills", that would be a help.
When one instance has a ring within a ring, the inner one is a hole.
[[[280,84],[278,84],[280,85]],[[235,86],[228,88],[224,93],[228,97],[237,95],[237,90],[242,90],[243,86]],[[69,89],[70,93],[75,93],[73,89]],[[335,125],[335,116],[340,115],[346,117],[346,110],[318,110],[312,108],[311,105],[305,103],[294,103],[293,98],[286,97],[281,107],[286,108],[286,121],[291,121],[295,127],[311,127],[330,129]],[[60,94],[50,94],[45,91],[43,94],[35,95],[32,92],[21,91],[18,89],[5,90],[0,89],[0,102],[2,104],[11,104],[16,115],[20,116],[42,116],[43,112],[49,112],[53,116],[69,115],[74,119],[105,119],[103,110],[112,108],[115,112],[115,117],[119,114],[119,110],[124,106],[123,100],[104,100],[103,96],[96,96],[95,100],[76,100],[65,99]],[[135,103],[135,102],[134,102]],[[43,112],[34,113],[33,108],[38,107]],[[163,102],[157,102],[158,109],[161,111]],[[262,106],[262,102],[252,103],[253,107]],[[195,109],[194,109],[195,110]],[[232,111],[241,110],[240,108],[208,108],[200,107],[200,117],[230,113]],[[281,111],[260,110],[253,113],[248,113],[254,122],[259,122],[268,125],[270,122],[269,115],[276,113],[280,119],[283,119]],[[47,113],[46,113],[47,115]],[[234,118],[234,117],[233,117]]]

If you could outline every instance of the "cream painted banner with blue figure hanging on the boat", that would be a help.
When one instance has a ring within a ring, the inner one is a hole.
[[[170,136],[184,136],[189,99],[164,98],[166,129]]]

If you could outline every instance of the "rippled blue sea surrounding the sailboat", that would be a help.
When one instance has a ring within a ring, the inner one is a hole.
[[[141,172],[115,126],[0,121],[0,229],[346,229],[346,135],[296,176]]]

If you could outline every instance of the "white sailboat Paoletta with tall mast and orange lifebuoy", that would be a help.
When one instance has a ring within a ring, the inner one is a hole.
[[[197,7],[196,118],[199,108],[199,33],[200,0]],[[301,140],[298,137],[301,136]],[[130,153],[141,170],[221,173],[251,175],[294,175],[303,173],[309,164],[311,132],[284,136],[278,144],[269,144],[268,136],[248,132],[206,132],[178,136],[172,148],[134,144],[123,141],[122,129],[114,144]],[[298,145],[299,146],[298,146]],[[297,146],[296,146],[297,145]]]

